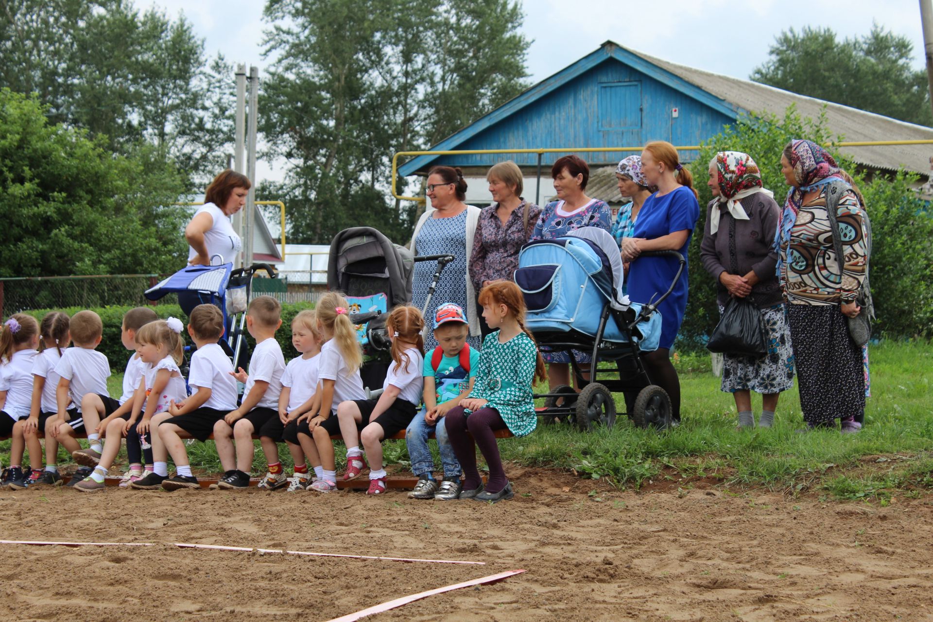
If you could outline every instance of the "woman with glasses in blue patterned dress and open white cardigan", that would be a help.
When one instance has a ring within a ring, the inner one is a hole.
[[[476,292],[466,267],[473,250],[473,237],[480,220],[480,208],[467,205],[466,181],[460,169],[435,166],[427,173],[427,197],[431,206],[414,227],[411,251],[415,256],[453,255],[453,261],[440,274],[438,288],[431,298],[433,304],[453,302],[466,310],[469,320],[470,347],[480,349],[480,320],[476,309]],[[411,303],[419,309],[425,306],[428,287],[436,265],[431,261],[414,265],[411,283]],[[425,331],[425,351],[437,347],[430,330]]]

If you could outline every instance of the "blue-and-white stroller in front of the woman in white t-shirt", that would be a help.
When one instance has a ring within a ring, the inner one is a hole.
[[[245,367],[248,360],[246,352],[246,306],[252,293],[253,275],[265,270],[270,278],[278,273],[269,264],[253,264],[248,268],[233,269],[233,264],[214,264],[210,266],[187,266],[172,276],[146,290],[149,300],[158,300],[166,294],[197,291],[206,294],[211,304],[220,308],[224,316],[224,339],[220,346],[230,356],[233,368]],[[187,375],[187,374],[186,374]]]

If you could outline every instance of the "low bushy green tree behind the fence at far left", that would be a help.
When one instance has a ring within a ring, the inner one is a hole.
[[[115,156],[47,112],[35,94],[0,90],[0,276],[177,269],[182,175],[152,146]]]

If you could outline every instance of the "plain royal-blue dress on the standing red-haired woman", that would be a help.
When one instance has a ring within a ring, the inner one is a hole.
[[[679,249],[680,254],[687,258],[690,238],[693,237],[693,228],[699,217],[700,204],[688,187],[678,187],[663,197],[655,193],[642,205],[632,237],[654,240],[687,229],[687,242]],[[629,269],[629,297],[641,303],[648,303],[651,297],[660,297],[674,280],[677,265],[677,260],[669,257],[637,257]],[[684,311],[687,311],[687,277],[685,267],[674,291],[658,307],[661,311],[660,348],[671,349],[680,324],[684,321]]]

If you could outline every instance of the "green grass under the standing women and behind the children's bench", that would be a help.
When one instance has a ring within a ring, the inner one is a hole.
[[[884,343],[873,347],[870,357],[872,396],[865,429],[857,435],[799,433],[803,423],[796,389],[782,395],[772,429],[737,431],[731,395],[719,391],[709,357],[683,355],[675,361],[683,394],[678,428],[642,430],[620,415],[611,430],[585,434],[567,425],[539,426],[532,435],[500,441],[499,447],[509,461],[566,469],[619,487],[671,480],[676,489],[705,478],[730,487],[818,491],[837,499],[888,503],[898,491],[933,488],[933,346]],[[120,393],[120,382],[119,376],[110,379],[112,394]],[[753,403],[760,410],[760,402]],[[624,412],[620,395],[617,409]],[[8,451],[9,441],[0,443],[4,463]],[[404,441],[386,442],[384,452],[387,463],[408,466]],[[188,453],[203,472],[220,471],[212,443],[193,443]],[[280,453],[290,467],[284,446]],[[338,449],[339,459],[342,454]],[[70,460],[62,458],[62,463]],[[254,471],[265,471],[258,443]]]

